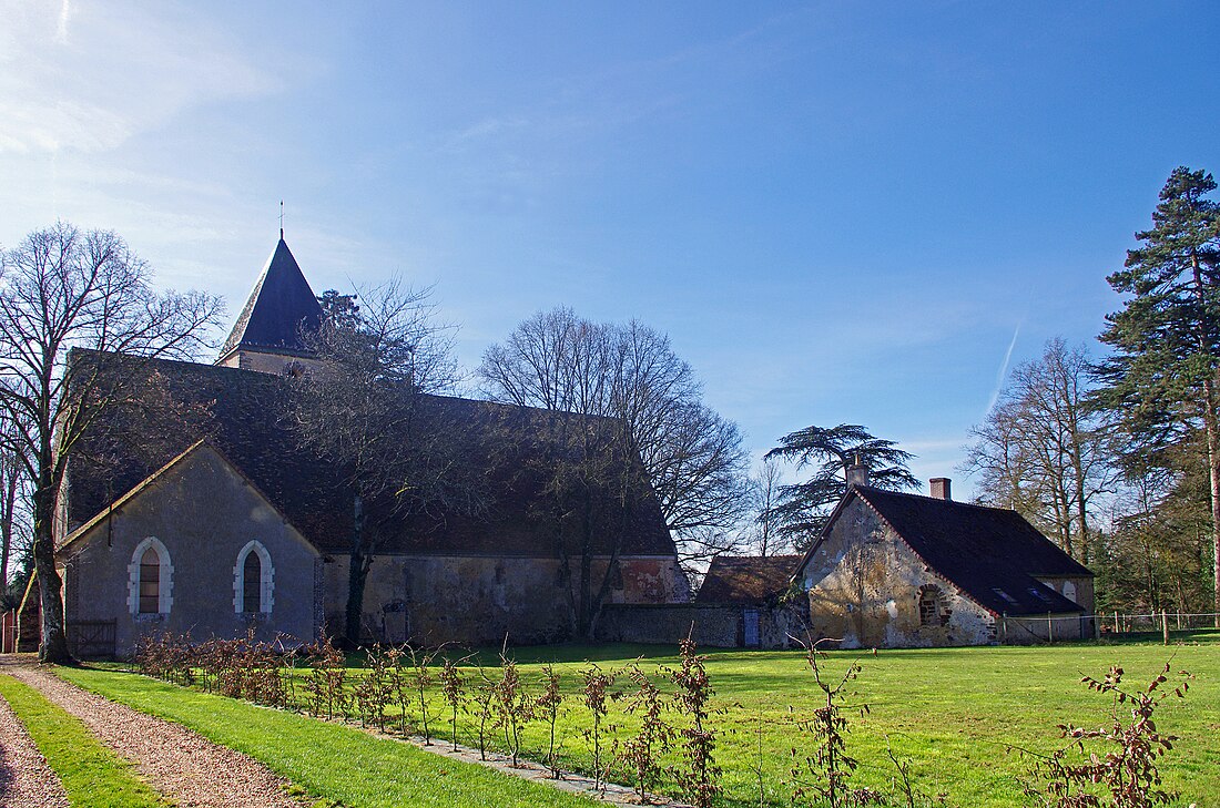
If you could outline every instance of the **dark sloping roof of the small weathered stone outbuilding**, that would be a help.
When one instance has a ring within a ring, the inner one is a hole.
[[[837,513],[853,496],[876,511],[936,573],[996,614],[1085,611],[1037,579],[1093,573],[1015,511],[853,486]],[[830,529],[827,524],[822,535]]]

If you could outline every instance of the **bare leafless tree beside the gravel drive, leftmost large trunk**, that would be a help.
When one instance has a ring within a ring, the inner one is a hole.
[[[221,313],[217,297],[156,291],[148,264],[111,232],[59,222],[0,253],[0,407],[32,487],[41,661],[71,659],[54,534],[67,457],[127,394],[120,375],[105,373],[105,355],[72,363],[70,351],[193,358]]]

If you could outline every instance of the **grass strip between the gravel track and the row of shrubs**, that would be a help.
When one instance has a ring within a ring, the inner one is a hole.
[[[548,786],[295,713],[118,670],[59,668],[56,673],[135,709],[184,724],[261,760],[309,793],[353,808],[590,804]]]

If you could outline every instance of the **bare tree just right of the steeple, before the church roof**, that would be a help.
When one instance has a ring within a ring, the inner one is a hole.
[[[344,637],[360,640],[365,583],[392,522],[428,508],[477,508],[456,435],[429,395],[451,386],[450,329],[428,291],[398,279],[351,296],[326,292],[322,327],[304,334],[320,360],[294,377],[293,420],[309,451],[333,463],[353,496]],[[344,302],[345,301],[345,302]]]

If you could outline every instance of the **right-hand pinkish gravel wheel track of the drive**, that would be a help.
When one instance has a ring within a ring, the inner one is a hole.
[[[178,806],[209,808],[300,808],[307,804],[284,792],[287,781],[240,752],[212,743],[181,724],[152,718],[29,664],[0,670],[41,691],[78,717]]]

